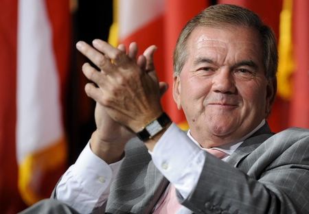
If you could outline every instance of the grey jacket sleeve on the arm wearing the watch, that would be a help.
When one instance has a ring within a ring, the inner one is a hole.
[[[262,143],[238,168],[207,155],[182,202],[194,213],[309,213],[308,130],[290,129]]]

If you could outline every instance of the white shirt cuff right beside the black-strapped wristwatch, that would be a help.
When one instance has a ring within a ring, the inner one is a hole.
[[[150,154],[163,176],[172,182],[183,198],[187,198],[201,175],[206,152],[172,123]]]

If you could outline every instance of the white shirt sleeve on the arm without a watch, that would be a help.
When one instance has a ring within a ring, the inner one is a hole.
[[[63,174],[56,187],[56,198],[79,213],[91,213],[106,201],[121,163],[119,160],[108,165],[87,143],[76,163]]]

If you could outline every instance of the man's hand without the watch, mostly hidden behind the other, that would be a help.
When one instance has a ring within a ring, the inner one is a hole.
[[[119,45],[118,49],[126,52],[124,45]],[[131,43],[128,47],[128,56],[133,60],[136,60],[139,67],[146,68],[147,72],[155,73],[155,67],[153,64],[153,54],[157,48],[155,46],[148,47],[143,56],[137,59],[137,45]],[[85,64],[83,69],[89,69],[90,64]],[[93,68],[91,68],[93,69]],[[163,95],[168,89],[168,84],[165,82],[159,83],[160,93]],[[115,163],[121,160],[124,155],[124,147],[128,140],[135,136],[133,132],[128,130],[125,126],[117,123],[106,112],[106,107],[100,105],[98,102],[95,106],[95,123],[97,129],[91,136],[91,150],[94,154],[102,158],[106,163]]]

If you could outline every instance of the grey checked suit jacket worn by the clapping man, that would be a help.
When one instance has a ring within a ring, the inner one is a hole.
[[[133,139],[104,204],[106,213],[150,213],[168,184],[144,144]],[[185,200],[178,196],[194,213],[309,213],[309,130],[273,135],[266,124],[227,163],[207,154],[192,193]]]

